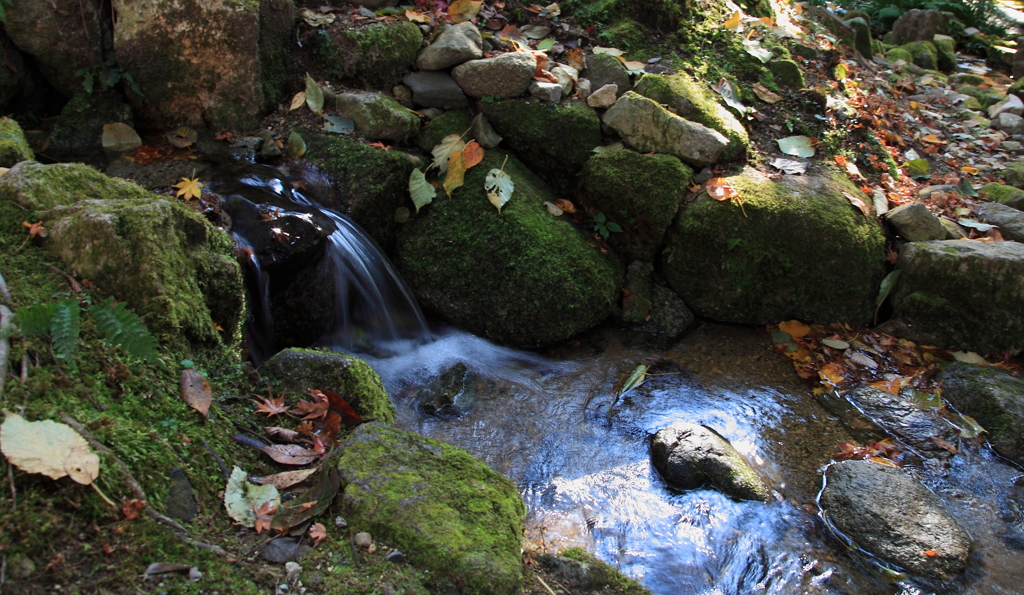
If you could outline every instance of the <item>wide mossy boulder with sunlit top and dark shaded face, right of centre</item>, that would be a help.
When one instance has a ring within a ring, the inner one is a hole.
[[[751,324],[871,320],[885,238],[844,196],[856,187],[838,173],[772,181],[750,168],[726,182],[743,210],[703,195],[666,238],[666,278],[690,308]]]

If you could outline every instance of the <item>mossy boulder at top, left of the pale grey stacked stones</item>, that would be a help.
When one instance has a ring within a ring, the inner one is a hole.
[[[338,19],[319,30],[312,43],[321,69],[332,78],[390,87],[416,63],[423,33],[409,20],[352,28]]]

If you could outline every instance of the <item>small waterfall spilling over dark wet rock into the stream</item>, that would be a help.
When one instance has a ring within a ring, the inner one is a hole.
[[[305,168],[302,175],[319,175]],[[323,206],[316,180],[269,166],[222,168],[210,182],[246,271],[250,355],[325,346],[388,355],[428,339],[416,298],[358,224]]]

